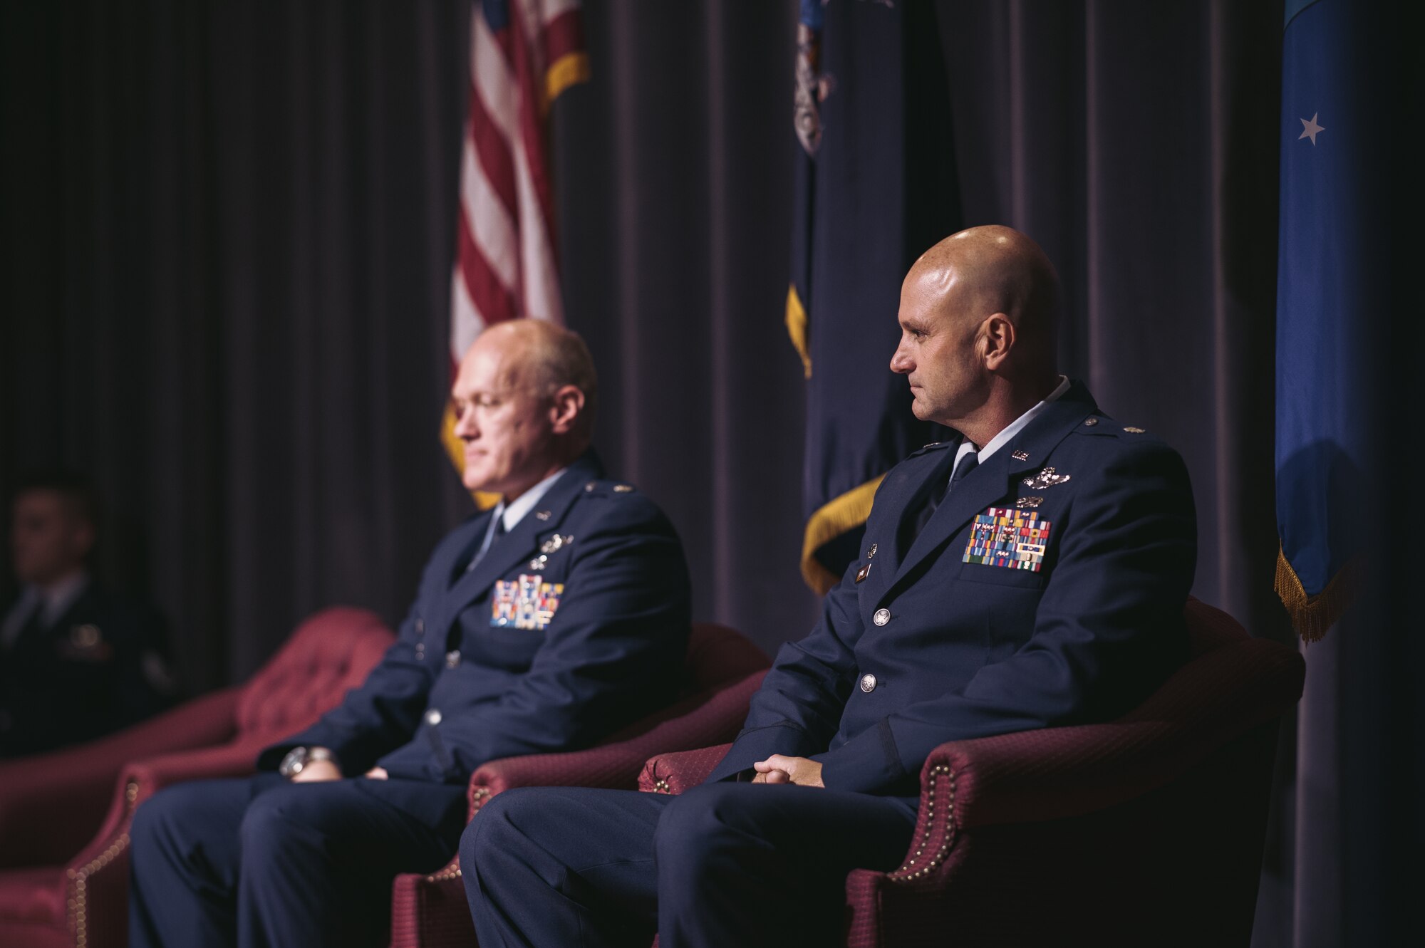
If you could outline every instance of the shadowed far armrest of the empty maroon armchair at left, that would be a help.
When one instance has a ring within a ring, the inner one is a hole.
[[[103,824],[125,763],[231,739],[239,692],[214,692],[117,734],[0,764],[0,867],[68,861]]]

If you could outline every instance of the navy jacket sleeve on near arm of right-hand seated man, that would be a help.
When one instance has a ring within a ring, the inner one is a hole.
[[[1181,458],[1144,441],[1083,475],[1030,639],[962,689],[815,754],[825,786],[913,793],[921,764],[945,742],[1109,719],[1183,660],[1197,525]]]

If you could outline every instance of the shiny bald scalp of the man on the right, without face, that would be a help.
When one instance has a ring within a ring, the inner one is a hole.
[[[1029,236],[999,223],[952,233],[921,255],[911,280],[940,295],[958,319],[1003,313],[1017,330],[1019,356],[1053,369],[1059,275]]]

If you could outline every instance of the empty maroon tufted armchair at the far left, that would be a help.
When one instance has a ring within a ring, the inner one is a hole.
[[[251,773],[262,747],[336,705],[392,641],[370,612],[326,609],[247,685],[0,764],[0,945],[125,945],[134,809],[180,780]]]

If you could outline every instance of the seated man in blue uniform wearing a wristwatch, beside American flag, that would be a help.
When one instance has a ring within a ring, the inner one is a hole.
[[[456,850],[486,760],[586,747],[683,679],[683,548],[589,448],[583,342],[486,330],[452,391],[465,484],[502,501],[436,547],[399,641],[251,779],[180,784],[133,828],[133,945],[385,945],[390,884]],[[294,686],[299,686],[294,683]]]

